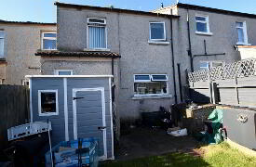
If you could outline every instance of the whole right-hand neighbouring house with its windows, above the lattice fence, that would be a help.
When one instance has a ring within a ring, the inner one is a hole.
[[[153,12],[180,16],[175,64],[181,64],[182,84],[186,80],[185,70],[208,70],[232,63],[243,57],[237,46],[256,45],[253,14],[181,3]]]

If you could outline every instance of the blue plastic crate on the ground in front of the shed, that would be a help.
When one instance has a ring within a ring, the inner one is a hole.
[[[95,138],[81,138],[82,148],[88,148],[88,152],[82,153],[82,164],[90,167],[98,166],[98,140]],[[53,161],[56,167],[78,166],[78,140],[62,141],[52,148]],[[50,151],[45,154],[46,167],[51,167]]]

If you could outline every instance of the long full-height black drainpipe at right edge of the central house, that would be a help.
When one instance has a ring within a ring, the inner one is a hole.
[[[170,9],[170,14],[172,15],[172,9]],[[174,87],[174,98],[175,104],[177,101],[177,92],[176,92],[176,80],[175,80],[175,66],[174,66],[174,51],[173,51],[173,27],[172,27],[172,18],[170,18],[170,47],[171,47],[171,63],[172,63],[172,75],[173,75],[173,87]]]

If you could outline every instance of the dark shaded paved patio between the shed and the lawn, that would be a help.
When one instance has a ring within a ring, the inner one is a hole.
[[[194,152],[199,143],[192,136],[173,137],[159,128],[134,128],[120,137],[115,160],[131,160],[170,152]]]

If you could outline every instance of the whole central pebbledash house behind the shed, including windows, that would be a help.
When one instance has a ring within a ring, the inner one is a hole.
[[[179,16],[55,3],[57,51],[38,51],[43,75],[114,75],[115,125],[169,108]],[[173,32],[172,32],[173,31]],[[173,40],[170,40],[170,39]]]

